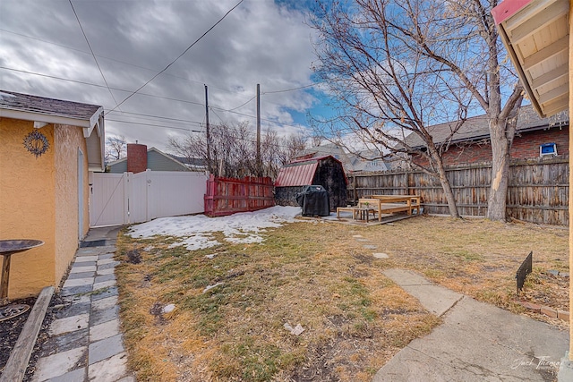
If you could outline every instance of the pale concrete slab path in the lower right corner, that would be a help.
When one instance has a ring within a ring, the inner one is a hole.
[[[541,382],[557,376],[560,359],[569,349],[567,331],[459,293],[443,293],[414,272],[389,269],[384,274],[404,285],[406,292],[417,293],[424,307],[440,307],[436,310],[445,314],[442,325],[407,344],[373,382]],[[444,301],[451,304],[449,309]]]

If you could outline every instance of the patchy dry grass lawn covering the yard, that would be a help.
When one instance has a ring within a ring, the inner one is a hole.
[[[533,250],[534,273],[519,298],[568,310],[569,278],[546,273],[569,272],[568,234],[421,216],[368,227],[294,223],[269,230],[263,244],[195,251],[168,249],[174,238],[120,236],[116,275],[129,364],[141,381],[369,381],[440,323],[381,270],[413,269],[531,314],[516,303],[515,272]],[[162,312],[168,304],[175,310]],[[304,332],[293,335],[285,324]]]

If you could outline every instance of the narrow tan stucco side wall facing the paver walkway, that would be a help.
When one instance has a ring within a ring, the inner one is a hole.
[[[78,223],[78,149],[82,156],[83,176],[83,221],[81,237],[87,233],[88,223],[88,159],[85,155],[86,141],[82,129],[75,126],[56,124],[55,132],[55,165],[56,165],[56,282],[64,276],[67,267],[73,260],[79,243]]]

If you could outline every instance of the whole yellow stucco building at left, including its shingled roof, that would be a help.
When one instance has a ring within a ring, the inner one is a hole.
[[[49,145],[38,157],[24,146],[30,132]],[[0,239],[44,242],[12,256],[9,299],[60,286],[89,229],[89,174],[103,169],[104,140],[101,106],[0,90]]]

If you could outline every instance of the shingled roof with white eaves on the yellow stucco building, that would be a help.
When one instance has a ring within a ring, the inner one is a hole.
[[[90,171],[104,170],[105,128],[104,108],[102,106],[79,104],[76,102],[55,100],[28,96],[12,91],[0,90],[0,100],[7,98],[24,98],[23,102],[0,102],[0,117],[32,121],[34,127],[40,129],[48,123],[64,124],[82,128],[83,138],[88,149],[88,169]],[[37,102],[54,101],[54,108],[36,106]],[[64,112],[61,106],[81,107],[81,113]]]

